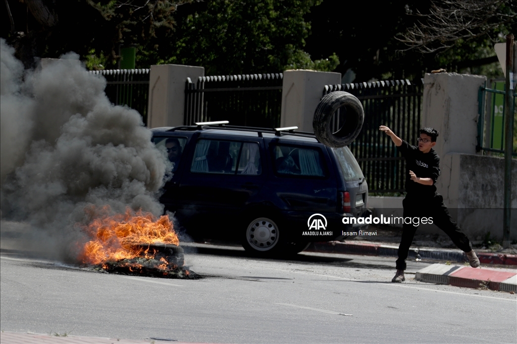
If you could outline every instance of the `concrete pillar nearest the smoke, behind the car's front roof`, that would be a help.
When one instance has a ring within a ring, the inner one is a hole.
[[[147,127],[184,125],[185,81],[205,75],[203,67],[179,64],[151,65]]]

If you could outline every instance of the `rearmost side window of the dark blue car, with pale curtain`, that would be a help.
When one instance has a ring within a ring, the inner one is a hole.
[[[275,172],[280,175],[325,176],[322,153],[315,148],[275,145],[273,159],[275,161]]]

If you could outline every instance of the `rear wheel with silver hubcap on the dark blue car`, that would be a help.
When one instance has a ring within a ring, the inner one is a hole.
[[[275,221],[267,217],[254,218],[248,224],[242,246],[254,253],[270,253],[278,247],[280,232]]]

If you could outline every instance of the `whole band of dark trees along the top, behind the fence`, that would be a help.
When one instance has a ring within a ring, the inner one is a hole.
[[[1,36],[27,67],[74,51],[114,68],[201,65],[207,75],[314,69],[358,80],[446,68],[496,76],[493,43],[516,33],[511,0],[6,0]],[[9,8],[9,10],[8,10]],[[11,15],[9,15],[9,13]]]

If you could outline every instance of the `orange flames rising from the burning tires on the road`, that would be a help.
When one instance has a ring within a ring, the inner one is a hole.
[[[125,214],[108,215],[110,208],[89,208],[86,212],[94,217],[92,222],[84,227],[92,239],[88,241],[81,253],[84,264],[97,265],[106,261],[131,259],[135,257],[153,258],[153,252],[148,252],[142,245],[166,243],[179,245],[178,237],[168,216],[158,220],[149,212],[126,209]],[[99,214],[101,213],[101,214]],[[165,269],[168,262],[163,259],[160,269]]]

